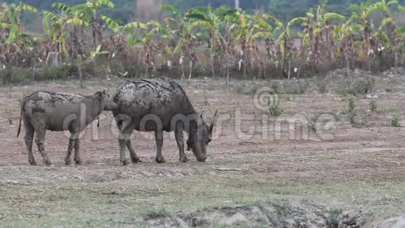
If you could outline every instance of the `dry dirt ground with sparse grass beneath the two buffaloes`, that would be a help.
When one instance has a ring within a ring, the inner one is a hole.
[[[220,113],[207,162],[186,152],[191,161],[179,163],[174,135],[166,133],[167,163],[156,164],[154,137],[135,132],[133,147],[143,162],[121,166],[117,129],[112,114],[105,112],[100,127],[94,123],[84,133],[82,166],[65,166],[67,134],[52,131],[47,131],[45,150],[53,166],[43,164],[35,145],[38,166],[29,165],[24,129],[15,137],[23,93],[90,94],[104,88],[112,93],[118,83],[86,81],[84,89],[77,81],[0,88],[0,227],[244,227],[252,220],[253,227],[268,227],[246,211],[268,211],[270,204],[279,205],[274,216],[295,213],[272,223],[276,227],[290,227],[295,223],[286,221],[314,214],[308,205],[325,208],[325,215],[316,213],[325,221],[345,210],[358,211],[367,221],[405,213],[405,132],[391,126],[394,115],[400,123],[405,120],[405,78],[377,77],[377,110],[369,110],[370,96],[359,95],[360,124],[354,127],[348,122],[348,101],[334,94],[333,83],[325,94],[309,89],[279,96],[283,113],[268,117],[254,106],[253,94],[240,88],[268,87],[270,82],[234,82],[227,89],[221,81],[193,80],[184,83],[193,106],[204,108],[208,118],[216,108]],[[319,115],[325,121],[317,122],[316,132],[300,121],[288,124],[294,117]],[[248,209],[241,212],[241,207]],[[213,208],[222,208],[216,210],[222,210],[222,217],[210,214]],[[233,209],[224,213],[223,208]],[[173,223],[169,218],[184,219]]]

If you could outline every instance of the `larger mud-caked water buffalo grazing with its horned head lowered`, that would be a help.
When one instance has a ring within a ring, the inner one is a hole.
[[[125,150],[128,148],[133,163],[140,162],[132,148],[130,136],[133,130],[154,131],[156,159],[165,162],[162,155],[163,131],[175,131],[180,162],[188,162],[184,154],[183,130],[189,134],[187,150],[193,151],[198,162],[207,159],[207,145],[212,139],[216,115],[206,124],[191,105],[180,85],[167,77],[126,80],[112,95],[117,108],[112,111],[119,134],[119,152],[122,164],[128,164]]]

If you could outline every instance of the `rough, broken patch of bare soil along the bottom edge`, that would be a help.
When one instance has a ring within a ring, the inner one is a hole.
[[[193,213],[151,213],[144,222],[150,227],[360,227],[358,213],[334,211],[308,201],[226,206]]]

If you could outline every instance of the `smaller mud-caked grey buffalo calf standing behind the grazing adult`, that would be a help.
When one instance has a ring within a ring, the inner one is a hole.
[[[81,164],[79,156],[79,134],[89,123],[95,120],[103,110],[111,111],[116,105],[110,101],[108,94],[96,92],[89,96],[77,93],[36,91],[21,101],[20,124],[17,137],[20,135],[21,120],[24,120],[25,143],[28,160],[36,165],[32,154],[34,132],[35,143],[45,164],[51,162],[45,152],[45,132],[70,131],[66,165],[71,164],[71,153],[75,150],[75,163]]]

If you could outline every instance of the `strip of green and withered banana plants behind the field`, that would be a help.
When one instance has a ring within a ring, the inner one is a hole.
[[[45,66],[60,64],[68,66],[66,75],[80,78],[169,73],[221,76],[228,83],[230,78],[302,78],[336,68],[346,68],[349,76],[353,68],[378,72],[404,63],[405,29],[395,15],[405,8],[397,0],[348,6],[336,0],[241,1],[242,8],[251,6],[246,10],[209,2],[128,2],[138,10],[132,14],[121,12],[121,7],[131,10],[124,1],[2,3],[1,80],[19,81],[16,77],[25,77],[15,72],[24,69],[38,79]],[[293,11],[297,8],[308,10]],[[282,15],[283,10],[289,13]],[[27,17],[40,17],[41,31],[33,33],[24,23]]]

